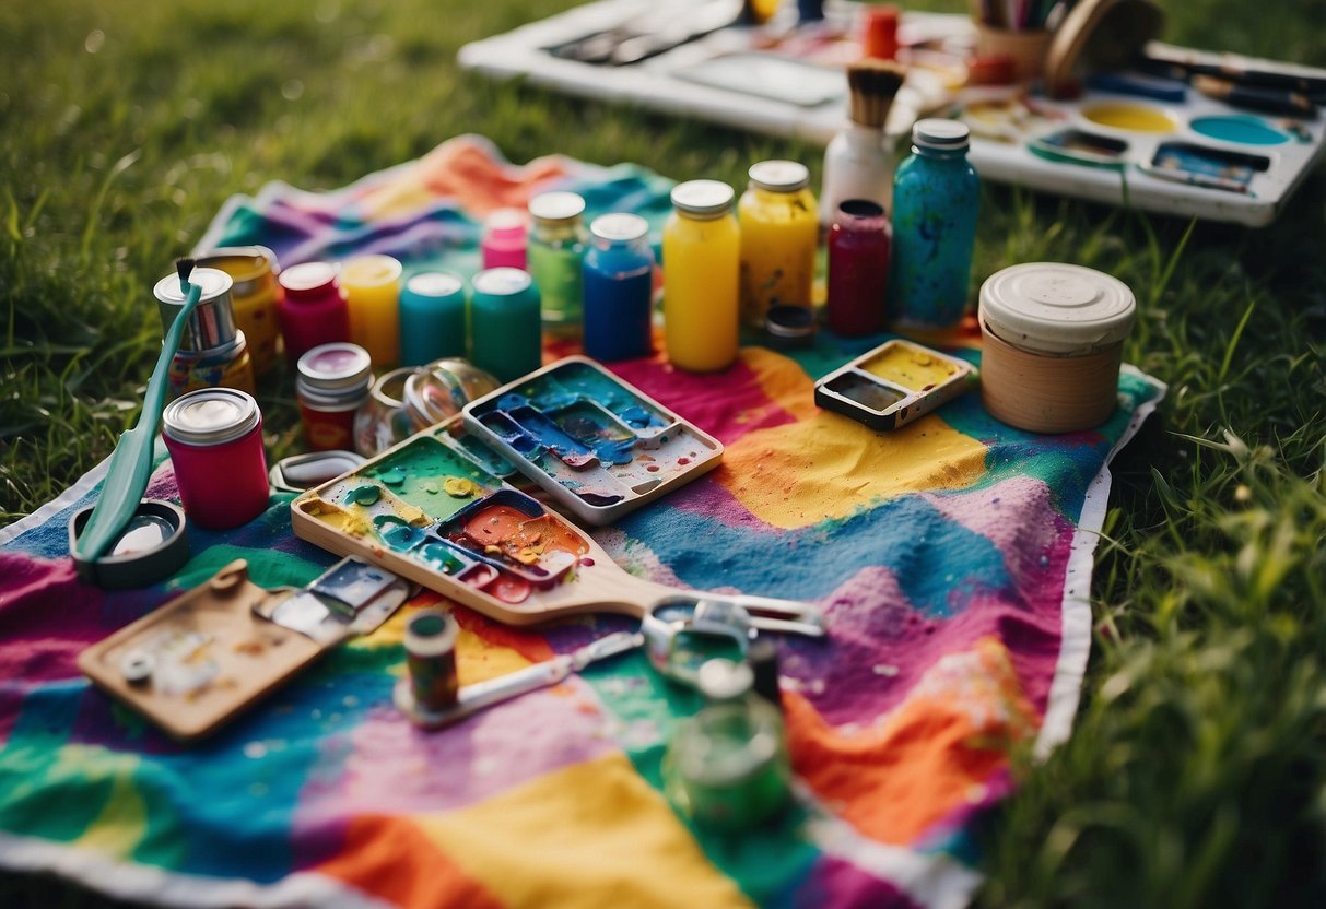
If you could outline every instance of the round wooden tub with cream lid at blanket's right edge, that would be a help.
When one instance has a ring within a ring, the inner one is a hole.
[[[1123,341],[1136,301],[1118,278],[1081,265],[1028,262],[981,285],[981,400],[1029,432],[1077,432],[1118,404]]]

